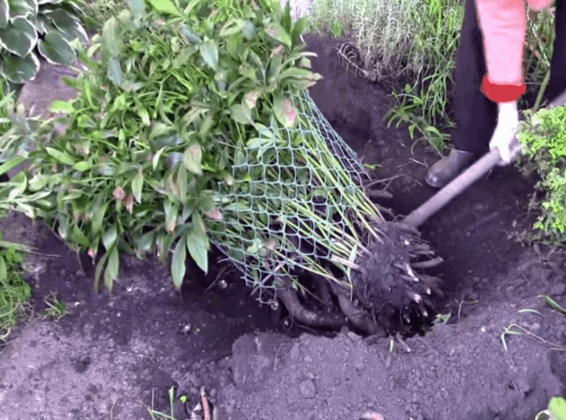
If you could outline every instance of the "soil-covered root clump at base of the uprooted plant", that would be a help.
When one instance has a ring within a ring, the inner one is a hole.
[[[290,282],[278,290],[278,297],[295,321],[330,329],[351,324],[360,332],[375,335],[395,329],[400,314],[410,322],[411,313],[426,319],[429,311],[435,312],[434,300],[443,295],[440,279],[423,271],[442,260],[410,227],[385,222],[378,230],[378,239],[366,245],[370,252],[360,254],[355,261],[351,287],[347,282],[311,276],[315,286],[312,299],[300,297]]]

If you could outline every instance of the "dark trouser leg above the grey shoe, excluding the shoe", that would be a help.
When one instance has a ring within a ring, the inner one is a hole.
[[[458,150],[484,153],[497,124],[497,106],[480,91],[485,56],[475,0],[466,0],[460,46],[456,53],[453,98],[456,128],[452,143]]]

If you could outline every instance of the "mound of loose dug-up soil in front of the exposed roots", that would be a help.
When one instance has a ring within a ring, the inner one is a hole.
[[[563,280],[534,266],[522,275],[529,281],[499,290],[499,300],[425,337],[396,341],[393,352],[387,339],[352,332],[333,339],[246,335],[228,361],[192,374],[218,389],[219,419],[360,419],[366,411],[390,420],[532,419],[565,391],[566,347],[559,346],[566,322],[542,299],[518,298],[560,291]],[[506,336],[506,350],[500,334],[512,324],[525,335]],[[181,393],[191,388],[182,380],[179,386]]]

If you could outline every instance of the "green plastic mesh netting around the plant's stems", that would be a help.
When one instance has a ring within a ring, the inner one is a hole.
[[[354,151],[308,93],[295,96],[293,106],[296,128],[273,120],[255,144],[233,150],[233,179],[241,181],[220,184],[223,221],[210,232],[266,303],[274,294],[266,299],[263,292],[298,268],[334,280],[325,266],[331,262],[348,274],[355,244],[367,242],[371,226],[383,221],[361,188],[368,174]],[[246,177],[251,173],[261,176]]]

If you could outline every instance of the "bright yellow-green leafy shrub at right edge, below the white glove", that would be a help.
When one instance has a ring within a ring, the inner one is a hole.
[[[535,224],[540,239],[566,245],[566,106],[525,113],[517,138],[525,165],[540,175],[532,201],[540,212]]]

